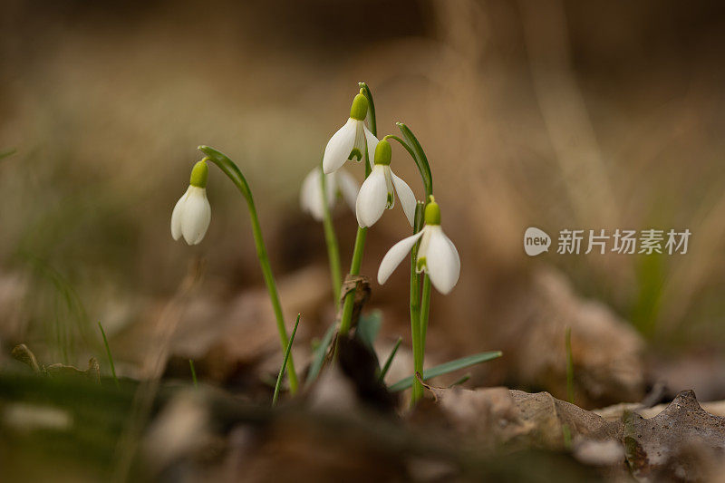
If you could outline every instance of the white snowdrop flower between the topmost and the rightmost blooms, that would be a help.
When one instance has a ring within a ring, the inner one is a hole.
[[[375,164],[365,179],[355,202],[355,214],[360,227],[372,227],[382,217],[385,208],[395,206],[395,193],[401,198],[402,210],[413,226],[415,195],[402,179],[391,171],[391,144],[383,138],[375,147]]]

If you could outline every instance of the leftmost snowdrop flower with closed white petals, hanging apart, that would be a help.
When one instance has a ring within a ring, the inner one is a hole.
[[[191,169],[189,189],[179,198],[171,213],[171,237],[183,235],[189,245],[198,245],[204,238],[211,221],[211,207],[207,199],[208,166],[206,159]]]

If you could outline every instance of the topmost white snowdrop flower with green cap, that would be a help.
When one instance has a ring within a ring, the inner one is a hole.
[[[365,126],[367,113],[368,100],[361,89],[350,108],[350,119],[333,134],[324,148],[324,174],[340,169],[346,160],[362,161],[365,159],[365,150],[369,153],[368,158],[375,152],[375,143],[378,140]]]

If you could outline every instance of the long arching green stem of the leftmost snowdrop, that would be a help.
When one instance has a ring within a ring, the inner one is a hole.
[[[249,189],[247,179],[244,178],[237,165],[234,164],[227,155],[208,146],[199,146],[198,150],[206,154],[208,160],[216,164],[218,168],[227,175],[227,178],[231,179],[247,200],[249,218],[252,222],[252,235],[255,238],[256,257],[259,259],[259,265],[262,268],[262,275],[265,279],[266,289],[267,292],[269,292],[269,300],[272,302],[272,308],[275,311],[279,341],[282,344],[282,350],[285,351],[287,343],[289,343],[287,329],[285,328],[285,318],[282,314],[282,305],[279,303],[279,294],[277,294],[275,275],[272,274],[272,267],[269,265],[269,257],[266,255],[265,240],[262,238],[262,227],[260,227],[259,218],[256,216],[255,201],[254,198],[252,198],[252,191]],[[289,372],[289,391],[295,394],[297,392],[299,382],[297,381],[297,372],[295,371],[295,362],[292,356],[290,356],[289,361],[287,362],[287,370]]]

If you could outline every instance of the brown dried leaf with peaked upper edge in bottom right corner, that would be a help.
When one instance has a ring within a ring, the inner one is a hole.
[[[707,481],[725,451],[725,418],[704,411],[693,391],[681,391],[651,419],[624,416],[626,458],[642,481]]]

